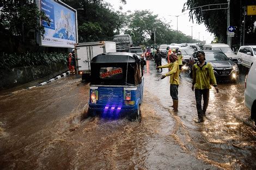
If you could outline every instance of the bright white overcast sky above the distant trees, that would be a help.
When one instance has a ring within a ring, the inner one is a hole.
[[[183,5],[186,0],[159,0],[159,1],[149,1],[149,0],[126,0],[126,4],[120,3],[120,0],[104,0],[112,4],[115,10],[119,9],[119,6],[123,7],[123,11],[131,10],[150,10],[153,15],[159,15],[160,18],[164,18],[166,22],[171,22],[171,28],[177,29],[177,17],[175,15],[180,15],[178,17],[178,30],[186,35],[190,35],[193,30],[193,39],[200,39],[200,41],[205,40],[206,43],[211,43],[214,39],[214,35],[207,32],[204,24],[198,25],[189,21],[188,14],[185,11],[181,12]],[[170,16],[173,15],[173,16]],[[192,29],[191,29],[191,26]],[[172,42],[170,42],[172,43]]]

